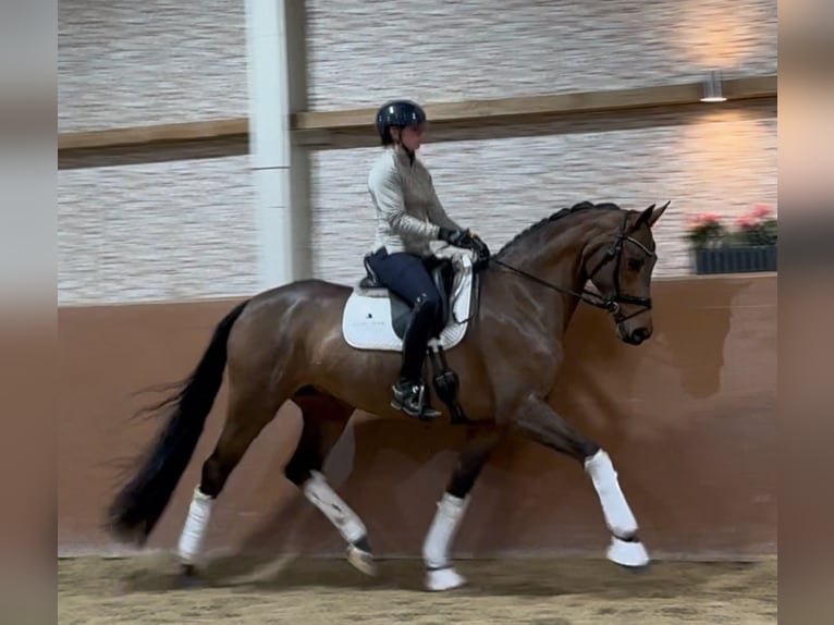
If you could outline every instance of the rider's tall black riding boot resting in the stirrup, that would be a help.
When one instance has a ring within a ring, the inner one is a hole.
[[[391,405],[406,415],[420,419],[434,419],[441,415],[440,410],[432,408],[429,404],[421,376],[426,345],[436,312],[430,307],[424,307],[421,299],[417,301],[412,322],[405,331],[403,341],[403,366],[400,370],[400,380],[392,388],[394,401]]]

